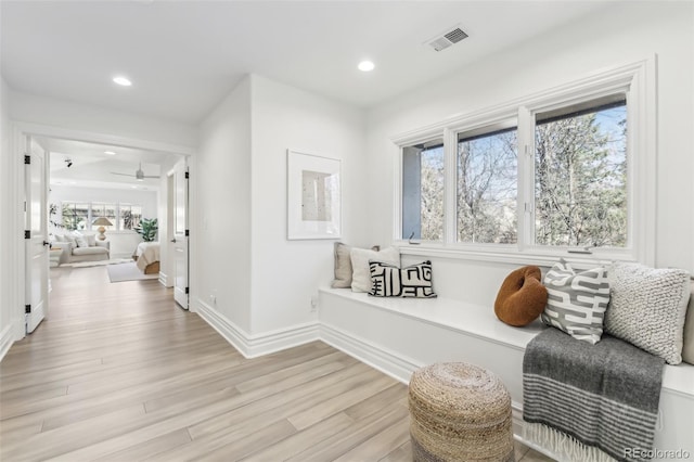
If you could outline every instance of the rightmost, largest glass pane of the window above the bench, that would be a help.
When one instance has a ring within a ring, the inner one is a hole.
[[[535,242],[627,245],[624,95],[536,115]]]

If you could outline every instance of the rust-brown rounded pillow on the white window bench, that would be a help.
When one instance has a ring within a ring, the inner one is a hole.
[[[497,318],[519,328],[540,316],[547,305],[547,287],[541,279],[542,272],[535,266],[518,268],[509,274],[494,301]]]

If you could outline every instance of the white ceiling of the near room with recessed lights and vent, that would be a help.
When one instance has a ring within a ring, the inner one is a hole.
[[[1,72],[14,90],[189,124],[248,73],[370,106],[608,3],[2,0]],[[457,24],[470,38],[423,44]]]

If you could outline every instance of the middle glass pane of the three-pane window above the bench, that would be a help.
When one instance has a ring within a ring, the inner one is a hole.
[[[458,137],[458,241],[517,241],[517,129]]]

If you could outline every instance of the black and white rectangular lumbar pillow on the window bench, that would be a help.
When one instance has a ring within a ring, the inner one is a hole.
[[[432,262],[426,260],[407,268],[369,261],[371,292],[375,297],[436,297],[432,286]]]

